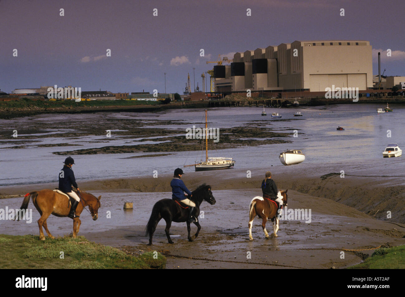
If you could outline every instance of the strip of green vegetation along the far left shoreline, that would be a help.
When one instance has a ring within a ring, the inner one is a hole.
[[[76,107],[76,106],[131,106],[131,105],[156,105],[157,101],[145,101],[145,100],[92,100],[75,102],[73,100],[56,100],[56,101],[42,101],[32,100],[28,98],[22,98],[19,100],[11,100],[0,102],[0,108],[24,108],[36,106],[39,108],[57,108],[57,107]]]

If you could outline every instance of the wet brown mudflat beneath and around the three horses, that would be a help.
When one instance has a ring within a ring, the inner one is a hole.
[[[279,189],[289,189],[288,208],[311,209],[311,223],[305,223],[305,220],[281,221],[279,237],[270,240],[264,238],[261,221],[257,217],[252,229],[253,242],[248,240],[247,228],[249,202],[252,197],[261,193],[258,187],[268,168],[253,170],[251,178],[247,178],[246,170],[241,169],[185,174],[183,180],[189,189],[194,189],[203,182],[210,184],[217,203],[211,206],[203,202],[201,210],[205,212],[205,216],[200,218],[202,229],[194,242],[187,241],[185,223],[173,223],[171,234],[175,243],[168,244],[164,233],[165,224],[162,220],[156,229],[152,246],[146,245],[148,239],[144,236],[145,226],[153,204],[162,197],[170,197],[171,176],[79,181],[81,189],[104,195],[103,211],[115,208],[118,216],[127,217],[121,214],[121,211],[124,212],[122,202],[114,198],[114,193],[116,196],[118,193],[127,193],[128,197],[133,196],[135,208],[134,215],[130,216],[133,219],[122,220],[121,217],[122,223],[119,223],[119,226],[103,223],[97,231],[90,231],[90,225],[86,230],[86,225],[83,224],[80,235],[85,235],[95,242],[123,248],[128,252],[158,250],[171,255],[198,258],[168,257],[167,268],[177,268],[177,266],[180,268],[288,268],[290,266],[342,268],[359,263],[373,252],[373,250],[345,251],[345,258],[341,259],[342,249],[405,244],[401,178],[385,178],[384,181],[380,177],[359,176],[345,176],[345,178],[330,176],[324,180],[320,178],[330,172],[339,172],[341,166],[270,168],[273,170],[273,178]],[[356,168],[349,169],[353,173]],[[347,172],[350,172],[349,169]],[[370,173],[366,169],[357,170],[356,174]],[[0,192],[2,195],[25,194],[28,191],[55,186],[57,185],[53,183],[3,187]],[[151,192],[151,194],[145,192]],[[387,211],[391,211],[391,219],[386,218]],[[374,216],[375,212],[377,212],[376,216]],[[382,215],[379,217],[379,214]],[[378,217],[380,219],[377,219]],[[267,230],[271,233],[271,223],[267,223],[267,226]],[[192,234],[195,230],[196,227],[192,226]],[[251,259],[247,259],[248,252]]]

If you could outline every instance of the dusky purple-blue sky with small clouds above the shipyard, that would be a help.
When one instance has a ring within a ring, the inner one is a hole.
[[[167,92],[182,94],[193,67],[202,89],[218,54],[294,40],[369,40],[373,74],[381,50],[385,74],[405,76],[404,23],[402,0],[0,0],[0,89],[163,93],[166,72]]]

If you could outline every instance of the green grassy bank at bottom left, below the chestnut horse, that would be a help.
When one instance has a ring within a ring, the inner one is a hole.
[[[166,265],[166,257],[160,253],[127,255],[117,248],[89,242],[83,236],[42,241],[34,235],[2,234],[0,255],[1,269],[164,269]]]

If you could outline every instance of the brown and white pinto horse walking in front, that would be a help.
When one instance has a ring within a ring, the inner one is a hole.
[[[283,200],[283,206],[287,206],[287,191],[279,191],[278,192],[278,197]],[[279,229],[278,223],[279,219],[277,218],[277,203],[275,203],[273,200],[270,200],[268,198],[263,198],[260,196],[256,196],[252,199],[250,202],[250,211],[249,211],[249,240],[252,241],[252,226],[253,226],[253,219],[255,216],[259,216],[259,218],[262,219],[262,228],[264,231],[264,234],[266,235],[266,238],[270,238],[269,233],[267,233],[266,230],[266,222],[268,219],[271,219],[273,222],[273,231],[271,235],[274,235],[274,237],[277,237],[277,231]]]

